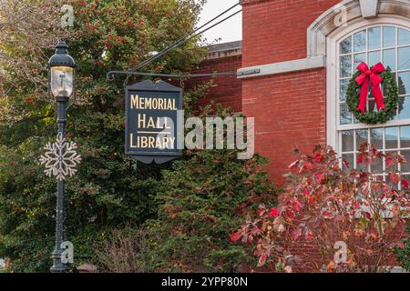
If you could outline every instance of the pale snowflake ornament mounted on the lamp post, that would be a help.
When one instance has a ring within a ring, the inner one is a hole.
[[[76,143],[67,142],[63,135],[58,135],[56,142],[48,143],[44,149],[46,154],[40,156],[40,162],[46,166],[46,176],[56,176],[57,180],[62,181],[77,173],[76,166],[80,163],[81,156],[77,154]]]

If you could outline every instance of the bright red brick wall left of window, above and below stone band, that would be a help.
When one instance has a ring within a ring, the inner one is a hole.
[[[309,25],[339,0],[244,0],[242,66],[306,57]],[[310,153],[326,142],[324,68],[244,79],[244,115],[255,117],[255,147],[270,159],[267,170],[283,186],[297,147]]]

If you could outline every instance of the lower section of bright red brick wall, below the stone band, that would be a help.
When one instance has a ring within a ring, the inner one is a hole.
[[[277,186],[295,159],[292,149],[310,153],[325,144],[325,71],[310,70],[243,81],[244,115],[255,117],[255,147],[270,159]]]

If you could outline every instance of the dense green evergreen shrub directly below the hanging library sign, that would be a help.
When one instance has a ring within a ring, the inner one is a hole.
[[[156,196],[158,219],[149,221],[152,266],[159,271],[234,272],[251,260],[230,234],[255,203],[273,189],[261,170],[265,159],[237,159],[236,151],[198,151],[163,172]]]

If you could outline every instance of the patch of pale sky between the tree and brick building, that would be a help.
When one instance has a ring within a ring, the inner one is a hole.
[[[210,21],[213,17],[220,15],[223,11],[235,5],[239,0],[208,0],[207,4],[204,6],[203,11],[200,15],[200,25],[205,24]],[[241,5],[236,6],[230,12],[225,15],[220,16],[218,20],[214,23],[222,20],[223,18],[231,15],[232,13],[241,10]],[[229,20],[211,28],[203,36],[207,38],[208,43],[212,43],[215,39],[221,38],[219,43],[228,43],[236,40],[242,39],[242,14],[235,15]],[[213,23],[212,23],[213,24]]]

